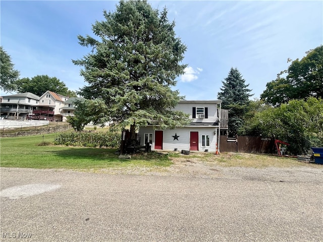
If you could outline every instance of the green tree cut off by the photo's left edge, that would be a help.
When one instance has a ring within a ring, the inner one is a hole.
[[[0,88],[4,91],[15,91],[19,71],[14,69],[10,55],[0,46]]]

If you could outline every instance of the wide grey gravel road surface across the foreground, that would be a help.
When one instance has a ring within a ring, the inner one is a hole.
[[[1,168],[0,240],[323,241],[321,166],[208,170]]]

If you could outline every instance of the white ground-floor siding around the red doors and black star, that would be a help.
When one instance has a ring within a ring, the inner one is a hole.
[[[163,133],[163,150],[174,150],[177,148],[180,150],[189,150],[190,149],[190,132],[195,131],[198,132],[198,150],[204,151],[207,149],[210,152],[216,151],[216,143],[217,143],[217,135],[214,135],[214,131],[216,128],[214,127],[185,127],[175,130],[164,130]],[[155,132],[152,127],[141,127],[139,131],[140,144],[144,145],[144,134],[149,133],[152,134],[152,147],[151,150],[154,150],[155,147]],[[174,140],[175,134],[178,137],[178,140]],[[210,137],[210,146],[202,147],[202,135],[209,135]]]

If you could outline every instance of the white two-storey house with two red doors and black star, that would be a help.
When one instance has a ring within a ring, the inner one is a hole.
[[[149,142],[152,150],[215,152],[220,133],[228,129],[228,110],[222,110],[221,103],[221,100],[181,100],[174,110],[188,113],[190,125],[174,130],[158,130],[152,125],[140,127],[140,145]]]

